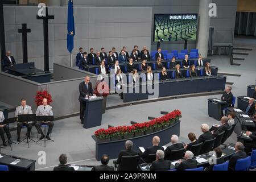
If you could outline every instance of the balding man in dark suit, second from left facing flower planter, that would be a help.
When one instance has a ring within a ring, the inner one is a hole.
[[[164,148],[160,147],[159,143],[160,143],[160,138],[158,136],[153,137],[153,139],[152,139],[153,146],[147,147],[143,153],[140,153],[141,158],[144,160],[144,162],[148,163],[148,155],[149,154],[155,154],[156,151],[158,151],[158,150],[164,151]]]

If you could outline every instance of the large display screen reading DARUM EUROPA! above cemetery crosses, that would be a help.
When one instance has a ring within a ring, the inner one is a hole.
[[[197,14],[155,14],[154,42],[196,40]]]

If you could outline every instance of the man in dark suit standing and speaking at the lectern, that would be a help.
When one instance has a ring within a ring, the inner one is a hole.
[[[82,98],[88,97],[89,96],[95,96],[93,94],[93,88],[92,88],[92,83],[90,82],[90,77],[86,76],[84,78],[84,81],[79,84],[79,101],[80,101],[80,119],[81,123],[84,124],[84,110],[85,110],[85,102],[82,101]]]

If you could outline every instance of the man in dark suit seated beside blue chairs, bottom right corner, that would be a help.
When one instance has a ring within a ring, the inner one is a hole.
[[[243,151],[244,146],[241,142],[237,142],[234,148],[235,148],[236,153],[233,156],[231,156],[231,158],[229,160],[229,170],[230,171],[235,170],[236,164],[237,164],[237,159],[246,158],[246,153]]]

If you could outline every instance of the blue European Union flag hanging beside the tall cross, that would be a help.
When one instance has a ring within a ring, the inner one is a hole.
[[[67,48],[71,53],[74,48],[74,36],[75,36],[75,22],[73,16],[73,1],[68,1],[68,34],[67,34]]]

